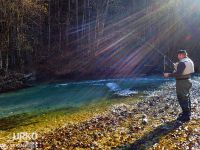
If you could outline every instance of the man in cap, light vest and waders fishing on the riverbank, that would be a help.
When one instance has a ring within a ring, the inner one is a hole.
[[[186,122],[191,116],[190,89],[192,87],[191,74],[194,73],[194,63],[187,56],[186,50],[178,51],[179,62],[175,64],[173,73],[164,73],[164,77],[176,78],[176,94],[178,102],[182,108],[182,113],[177,118],[178,121]],[[177,66],[176,66],[177,65]]]

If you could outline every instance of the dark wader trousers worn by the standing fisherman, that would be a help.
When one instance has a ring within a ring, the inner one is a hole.
[[[176,80],[176,94],[179,104],[182,108],[183,115],[191,115],[190,89],[192,82],[190,79]]]

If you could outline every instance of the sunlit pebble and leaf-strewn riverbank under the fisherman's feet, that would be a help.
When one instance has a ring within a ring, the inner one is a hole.
[[[78,122],[73,117],[68,124],[43,132],[32,143],[43,149],[199,149],[199,85],[199,77],[193,79],[190,122],[175,121],[180,107],[174,83],[166,83],[155,92],[147,92],[147,97],[138,97],[138,101],[130,97],[107,105]]]

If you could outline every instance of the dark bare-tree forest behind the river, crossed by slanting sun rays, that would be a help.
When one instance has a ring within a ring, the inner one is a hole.
[[[0,0],[0,12],[1,80],[158,74],[179,49],[200,70],[200,9],[191,1]]]

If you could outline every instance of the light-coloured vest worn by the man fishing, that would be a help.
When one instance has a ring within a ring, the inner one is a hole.
[[[191,73],[194,73],[194,63],[190,58],[184,58],[182,60],[180,60],[179,62],[183,62],[185,63],[185,69],[182,73],[182,75],[189,75]]]

